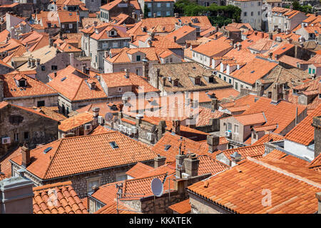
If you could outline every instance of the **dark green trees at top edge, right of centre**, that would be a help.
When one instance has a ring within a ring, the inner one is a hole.
[[[223,26],[240,21],[241,9],[237,6],[218,6],[210,4],[210,6],[200,6],[189,0],[178,0],[174,4],[174,12],[183,16],[208,16],[210,22],[215,25]]]

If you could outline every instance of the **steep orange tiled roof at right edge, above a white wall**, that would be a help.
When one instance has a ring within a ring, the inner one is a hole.
[[[302,145],[309,145],[315,138],[315,128],[311,125],[313,118],[320,115],[321,104],[318,105],[317,108],[310,113],[310,115],[307,115],[304,120],[296,125],[295,128],[292,128],[292,130],[285,135],[285,139],[300,143]]]

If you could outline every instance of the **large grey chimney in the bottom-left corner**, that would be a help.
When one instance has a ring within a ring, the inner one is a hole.
[[[24,177],[0,181],[0,214],[32,214],[34,183]]]

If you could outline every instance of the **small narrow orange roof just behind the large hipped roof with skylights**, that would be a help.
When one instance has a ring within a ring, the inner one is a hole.
[[[85,123],[90,123],[93,120],[93,114],[91,113],[79,113],[74,115],[71,118],[66,120],[62,120],[61,124],[58,125],[58,129],[67,132],[68,130],[72,130],[73,128],[77,128]]]

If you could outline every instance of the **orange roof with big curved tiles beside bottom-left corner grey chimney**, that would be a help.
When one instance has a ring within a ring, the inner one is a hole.
[[[34,214],[88,214],[71,181],[34,187]]]

